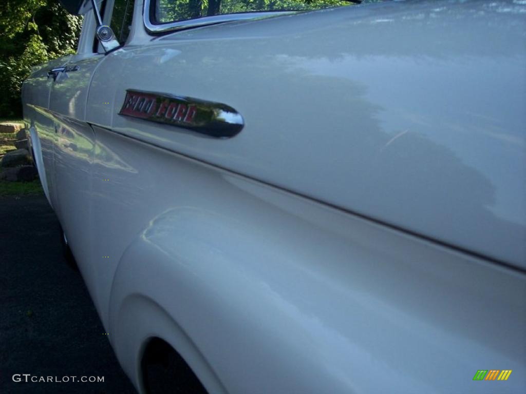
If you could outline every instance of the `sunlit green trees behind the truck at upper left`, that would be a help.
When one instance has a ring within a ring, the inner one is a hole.
[[[58,0],[2,0],[0,117],[20,116],[22,82],[31,67],[74,53],[82,19]]]

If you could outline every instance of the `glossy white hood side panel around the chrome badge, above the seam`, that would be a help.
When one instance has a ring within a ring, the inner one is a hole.
[[[526,267],[524,11],[388,2],[174,33],[107,56],[87,119]],[[126,89],[224,102],[246,127],[120,117]]]

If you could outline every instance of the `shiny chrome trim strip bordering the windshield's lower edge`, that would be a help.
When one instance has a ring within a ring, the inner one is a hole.
[[[245,20],[245,19],[254,19],[254,18],[264,18],[268,16],[275,15],[286,15],[294,14],[297,11],[269,11],[269,12],[247,12],[240,14],[224,14],[224,15],[215,15],[215,16],[204,16],[196,19],[180,20],[179,22],[155,24],[150,20],[150,5],[156,0],[144,0],[143,7],[143,21],[144,26],[148,33],[163,33],[171,32],[173,30],[184,29],[188,27],[197,27],[205,25],[213,25],[221,22],[231,22],[233,20]]]

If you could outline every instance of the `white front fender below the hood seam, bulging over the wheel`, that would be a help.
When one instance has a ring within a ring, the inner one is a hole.
[[[524,274],[95,135],[94,285],[138,387],[159,336],[212,393],[494,393],[479,365],[526,388]]]

